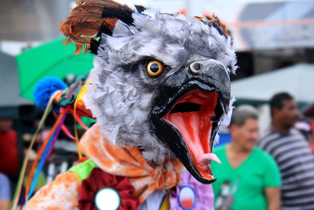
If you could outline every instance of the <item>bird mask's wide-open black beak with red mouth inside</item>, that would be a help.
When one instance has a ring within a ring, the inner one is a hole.
[[[214,59],[191,56],[185,65],[161,84],[150,116],[156,134],[200,182],[216,179],[210,161],[221,117],[228,111],[230,78]],[[227,113],[226,113],[227,114]]]

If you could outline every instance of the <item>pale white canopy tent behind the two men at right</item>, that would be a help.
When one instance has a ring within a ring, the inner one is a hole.
[[[313,103],[314,64],[297,64],[231,82],[231,97],[238,103],[262,104],[279,92],[290,93],[300,104]]]

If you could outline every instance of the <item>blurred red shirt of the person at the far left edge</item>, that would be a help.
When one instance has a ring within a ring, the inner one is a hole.
[[[14,130],[0,132],[0,172],[6,175],[19,173],[17,133]]]

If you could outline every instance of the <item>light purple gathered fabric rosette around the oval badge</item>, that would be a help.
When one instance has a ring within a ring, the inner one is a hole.
[[[182,210],[179,204],[178,196],[183,186],[190,186],[196,193],[196,204],[193,210],[213,210],[214,192],[211,184],[202,184],[198,182],[188,171],[184,172],[181,183],[176,186],[176,190],[170,193],[170,210]]]

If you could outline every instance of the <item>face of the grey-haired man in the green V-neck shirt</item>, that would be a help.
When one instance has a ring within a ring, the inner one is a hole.
[[[243,150],[252,150],[258,138],[258,122],[257,119],[246,119],[242,126],[232,125],[230,134],[233,141],[236,141]]]

